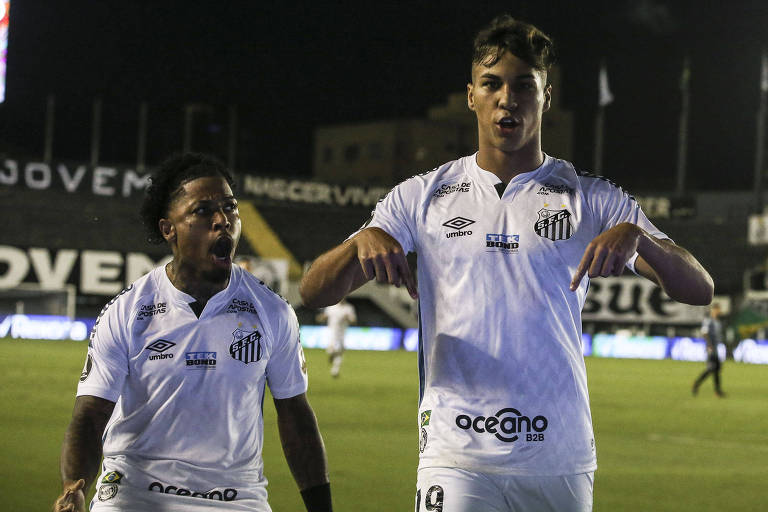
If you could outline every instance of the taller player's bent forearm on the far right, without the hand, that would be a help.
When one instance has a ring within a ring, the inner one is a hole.
[[[687,250],[644,234],[637,252],[672,299],[697,306],[712,302],[712,277]]]

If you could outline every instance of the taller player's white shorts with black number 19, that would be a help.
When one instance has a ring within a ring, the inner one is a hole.
[[[590,512],[594,472],[563,476],[424,468],[416,512]]]

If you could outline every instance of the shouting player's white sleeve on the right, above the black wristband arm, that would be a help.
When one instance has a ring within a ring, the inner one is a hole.
[[[289,305],[273,332],[275,340],[267,362],[267,384],[272,396],[282,399],[305,393],[307,363],[299,339],[299,321]]]

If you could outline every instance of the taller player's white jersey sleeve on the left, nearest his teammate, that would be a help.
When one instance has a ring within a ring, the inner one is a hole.
[[[370,221],[361,229],[381,228],[400,243],[403,251],[413,252],[416,239],[414,212],[420,192],[421,186],[416,178],[400,183],[379,201]]]

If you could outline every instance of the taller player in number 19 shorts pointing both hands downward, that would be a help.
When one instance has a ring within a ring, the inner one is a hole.
[[[417,512],[591,510],[585,276],[628,267],[675,300],[712,300],[706,270],[632,196],[542,152],[553,61],[527,23],[480,32],[467,85],[477,153],[397,185],[301,282],[311,308],[371,279],[418,297]]]

